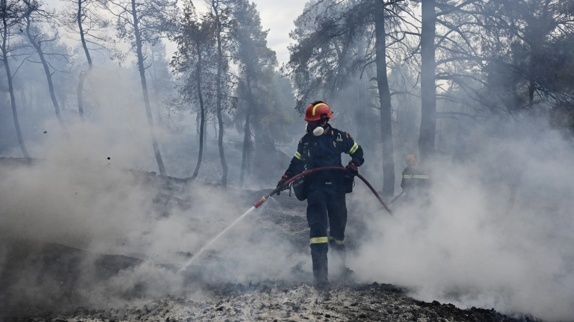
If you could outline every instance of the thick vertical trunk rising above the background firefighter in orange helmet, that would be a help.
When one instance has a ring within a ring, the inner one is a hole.
[[[421,30],[421,128],[418,150],[421,160],[435,151],[436,135],[436,76],[435,76],[435,0],[422,1]]]

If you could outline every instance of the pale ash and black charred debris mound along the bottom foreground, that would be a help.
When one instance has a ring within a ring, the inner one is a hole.
[[[202,299],[166,296],[141,305],[117,309],[76,308],[59,315],[29,316],[26,321],[528,321],[494,309],[462,310],[437,301],[425,303],[404,295],[401,289],[374,282],[338,285],[331,292],[317,292],[309,285],[285,286],[267,281],[258,284],[212,285]],[[24,321],[14,319],[14,321]]]

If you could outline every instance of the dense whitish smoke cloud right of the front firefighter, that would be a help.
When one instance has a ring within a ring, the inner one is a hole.
[[[470,162],[426,164],[429,203],[367,217],[350,261],[358,276],[424,301],[572,319],[572,142],[536,123],[508,129],[512,138],[482,140]]]

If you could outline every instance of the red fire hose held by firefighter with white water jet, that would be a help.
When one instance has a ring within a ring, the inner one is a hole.
[[[289,180],[287,180],[285,182],[285,184],[281,187],[277,187],[275,190],[271,191],[269,194],[264,195],[259,201],[255,202],[255,204],[253,205],[253,207],[251,207],[249,210],[247,210],[244,214],[241,215],[241,217],[237,218],[233,223],[231,223],[230,226],[228,226],[226,229],[224,229],[221,233],[219,233],[218,235],[216,235],[213,239],[211,239],[211,241],[203,246],[199,252],[197,252],[197,254],[195,254],[191,260],[189,260],[185,265],[184,268],[187,268],[189,265],[193,264],[194,261],[196,261],[198,258],[201,257],[201,254],[203,254],[203,252],[205,252],[205,250],[207,250],[208,248],[210,248],[211,245],[213,245],[215,243],[215,241],[217,241],[217,239],[219,239],[220,237],[222,237],[225,233],[227,233],[227,231],[229,231],[233,226],[235,226],[236,223],[238,223],[239,221],[241,221],[241,219],[243,219],[243,217],[245,217],[247,214],[251,213],[251,211],[258,209],[259,207],[261,207],[261,205],[263,205],[263,203],[265,203],[266,201],[268,201],[271,197],[273,197],[274,194],[276,194],[278,191],[281,191],[285,186],[289,186],[290,183],[292,183],[294,180],[297,180],[298,178],[301,178],[301,176],[304,175],[308,175],[308,174],[312,174],[313,172],[318,172],[318,171],[325,171],[325,170],[340,170],[340,171],[347,171],[347,168],[344,167],[322,167],[322,168],[315,168],[315,169],[311,169],[311,170],[307,170],[304,172],[301,172],[300,174],[293,176],[293,178],[290,178]],[[373,188],[373,186],[371,186],[371,184],[369,183],[369,181],[367,181],[367,179],[365,179],[362,175],[357,174],[356,175],[359,179],[361,179],[364,184],[367,185],[367,187],[369,187],[369,189],[373,192],[373,194],[375,195],[375,197],[377,197],[377,199],[379,200],[379,202],[381,202],[381,205],[383,205],[383,207],[385,207],[385,210],[390,214],[393,215],[393,212],[389,209],[389,207],[387,207],[386,203],[383,201],[383,199],[381,198],[381,196],[377,193],[377,190],[375,190]]]

